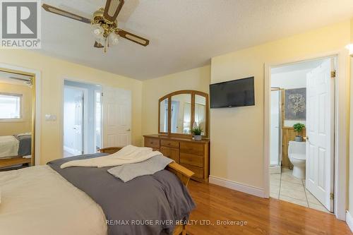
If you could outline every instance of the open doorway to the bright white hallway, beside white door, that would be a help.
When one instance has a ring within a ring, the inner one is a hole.
[[[64,80],[64,157],[102,147],[102,87]]]

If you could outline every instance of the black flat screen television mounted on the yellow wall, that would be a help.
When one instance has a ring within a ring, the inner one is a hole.
[[[255,105],[253,78],[211,84],[211,109]]]

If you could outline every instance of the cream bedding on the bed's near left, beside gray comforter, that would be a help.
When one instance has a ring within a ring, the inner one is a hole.
[[[47,165],[0,172],[0,188],[0,234],[107,234],[100,205]]]

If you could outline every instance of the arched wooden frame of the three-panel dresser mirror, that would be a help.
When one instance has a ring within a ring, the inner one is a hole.
[[[172,97],[175,95],[183,95],[183,94],[189,94],[191,95],[191,127],[195,121],[195,97],[196,95],[200,95],[205,97],[206,99],[206,105],[205,105],[205,135],[203,135],[205,138],[208,138],[208,124],[209,124],[209,116],[210,116],[210,107],[208,104],[208,94],[205,92],[200,92],[198,90],[178,90],[176,92],[169,93],[168,95],[164,95],[164,97],[161,97],[160,100],[158,100],[158,133],[160,134],[167,134],[167,135],[174,135],[174,136],[187,136],[191,137],[191,134],[182,134],[182,133],[172,133]],[[168,128],[167,132],[161,132],[160,131],[160,102],[163,100],[168,99]]]

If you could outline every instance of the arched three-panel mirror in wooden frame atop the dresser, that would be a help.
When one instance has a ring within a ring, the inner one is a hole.
[[[208,94],[179,90],[160,98],[158,133],[191,136],[193,125],[201,126],[208,137]]]

